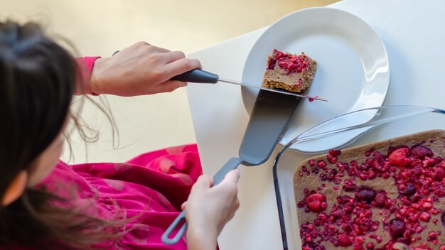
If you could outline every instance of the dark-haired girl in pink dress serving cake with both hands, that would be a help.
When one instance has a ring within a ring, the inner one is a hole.
[[[0,249],[215,249],[239,206],[239,172],[211,187],[195,145],[127,163],[58,160],[75,92],[173,91],[186,83],[169,79],[198,60],[136,43],[78,61],[34,23],[0,22]],[[161,234],[181,208],[186,239],[166,246]]]

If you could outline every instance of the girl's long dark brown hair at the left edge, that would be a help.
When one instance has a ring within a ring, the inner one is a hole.
[[[36,23],[0,22],[0,197],[60,133],[79,71]],[[27,188],[0,207],[0,248],[89,249],[122,237],[124,218],[108,222],[82,211],[44,188]]]

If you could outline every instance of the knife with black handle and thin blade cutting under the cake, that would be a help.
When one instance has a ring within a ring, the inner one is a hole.
[[[277,92],[280,94],[289,94],[289,95],[293,95],[294,97],[308,98],[309,101],[311,101],[311,102],[312,102],[312,100],[328,102],[328,100],[323,99],[321,97],[311,97],[306,94],[296,94],[294,92],[287,92],[285,90],[269,89],[267,87],[250,85],[245,82],[236,82],[236,81],[232,81],[232,80],[226,80],[226,79],[220,78],[218,75],[216,75],[212,72],[208,72],[208,71],[200,70],[200,69],[190,70],[190,71],[185,72],[181,75],[176,75],[176,77],[171,78],[171,80],[178,80],[181,82],[211,83],[211,84],[215,84],[217,82],[226,82],[226,83],[230,83],[232,85],[251,87],[254,89],[262,89],[262,90],[266,90],[266,91],[270,91],[270,92]]]

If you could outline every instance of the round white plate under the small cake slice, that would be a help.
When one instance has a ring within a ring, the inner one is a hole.
[[[323,121],[358,109],[380,107],[385,102],[390,84],[385,46],[368,23],[351,13],[321,7],[296,11],[279,19],[250,50],[242,82],[262,84],[267,56],[274,48],[295,54],[304,52],[316,60],[318,67],[308,94],[329,101],[304,99],[280,141],[283,145]],[[241,92],[250,114],[258,91],[242,87]],[[348,121],[337,126],[348,126]],[[327,147],[341,146],[352,138],[343,138]],[[306,152],[325,149],[294,147]]]

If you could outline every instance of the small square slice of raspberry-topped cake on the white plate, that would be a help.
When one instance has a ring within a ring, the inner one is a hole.
[[[275,50],[267,58],[263,87],[302,92],[311,85],[317,62],[304,53],[294,55]]]

